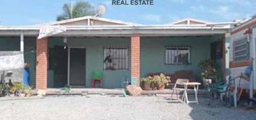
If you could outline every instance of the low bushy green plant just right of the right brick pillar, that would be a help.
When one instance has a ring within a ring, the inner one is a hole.
[[[154,76],[147,76],[145,78],[141,78],[141,81],[147,82],[150,84],[151,89],[158,89],[161,86],[168,85],[171,81],[170,76],[165,76],[164,74],[154,75]]]

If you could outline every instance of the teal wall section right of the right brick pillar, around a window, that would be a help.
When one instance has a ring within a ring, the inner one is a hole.
[[[141,76],[148,73],[174,74],[179,70],[192,70],[200,80],[197,66],[202,59],[210,58],[210,36],[169,36],[141,38]],[[166,46],[191,46],[191,64],[165,64]]]

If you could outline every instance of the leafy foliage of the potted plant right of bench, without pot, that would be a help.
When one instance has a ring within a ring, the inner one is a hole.
[[[200,61],[198,66],[202,69],[201,75],[203,79],[211,79],[217,74],[217,64],[210,59]]]

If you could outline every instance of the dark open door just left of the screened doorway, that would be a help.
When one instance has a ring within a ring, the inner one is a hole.
[[[67,85],[67,49],[64,46],[54,46],[54,88]]]

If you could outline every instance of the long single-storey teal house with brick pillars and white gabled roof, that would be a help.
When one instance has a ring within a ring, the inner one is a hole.
[[[37,39],[42,27],[66,31]],[[121,88],[124,81],[140,85],[148,73],[174,74],[191,70],[203,59],[218,63],[226,74],[226,34],[229,24],[181,19],[169,24],[142,25],[85,16],[30,26],[0,26],[0,51],[24,51],[30,64],[30,85],[37,89],[69,84],[91,87],[92,72],[103,71],[104,88]]]

